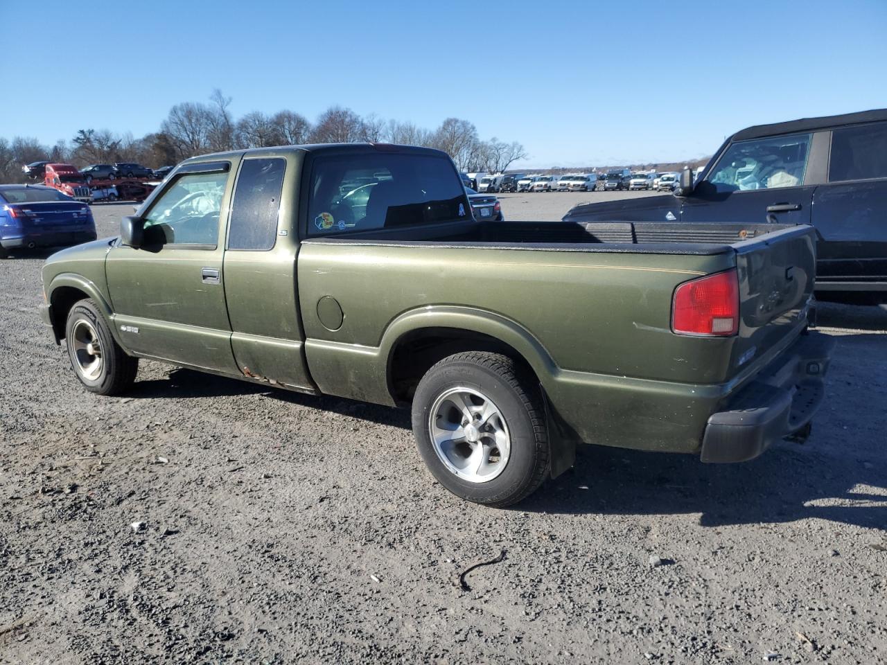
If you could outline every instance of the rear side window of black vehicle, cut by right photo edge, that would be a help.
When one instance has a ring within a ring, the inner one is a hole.
[[[887,177],[887,122],[832,132],[828,182]]]

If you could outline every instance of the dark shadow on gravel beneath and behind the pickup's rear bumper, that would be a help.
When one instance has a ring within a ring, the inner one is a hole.
[[[750,462],[705,465],[691,455],[583,446],[573,469],[515,508],[572,514],[699,512],[705,527],[820,518],[887,528],[887,459],[883,453],[879,457],[858,459],[841,450],[839,442],[781,442]]]

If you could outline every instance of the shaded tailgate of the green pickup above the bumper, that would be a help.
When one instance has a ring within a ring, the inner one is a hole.
[[[807,224],[736,243],[739,339],[732,374],[769,362],[807,325],[816,276],[816,235]]]

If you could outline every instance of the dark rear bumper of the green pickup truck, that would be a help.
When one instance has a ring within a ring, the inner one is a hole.
[[[835,340],[802,335],[785,353],[713,413],[703,434],[702,461],[744,462],[810,423],[825,395]]]

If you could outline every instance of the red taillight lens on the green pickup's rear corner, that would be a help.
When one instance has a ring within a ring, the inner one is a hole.
[[[728,337],[739,331],[739,275],[718,272],[686,282],[674,292],[671,330],[679,335]]]

